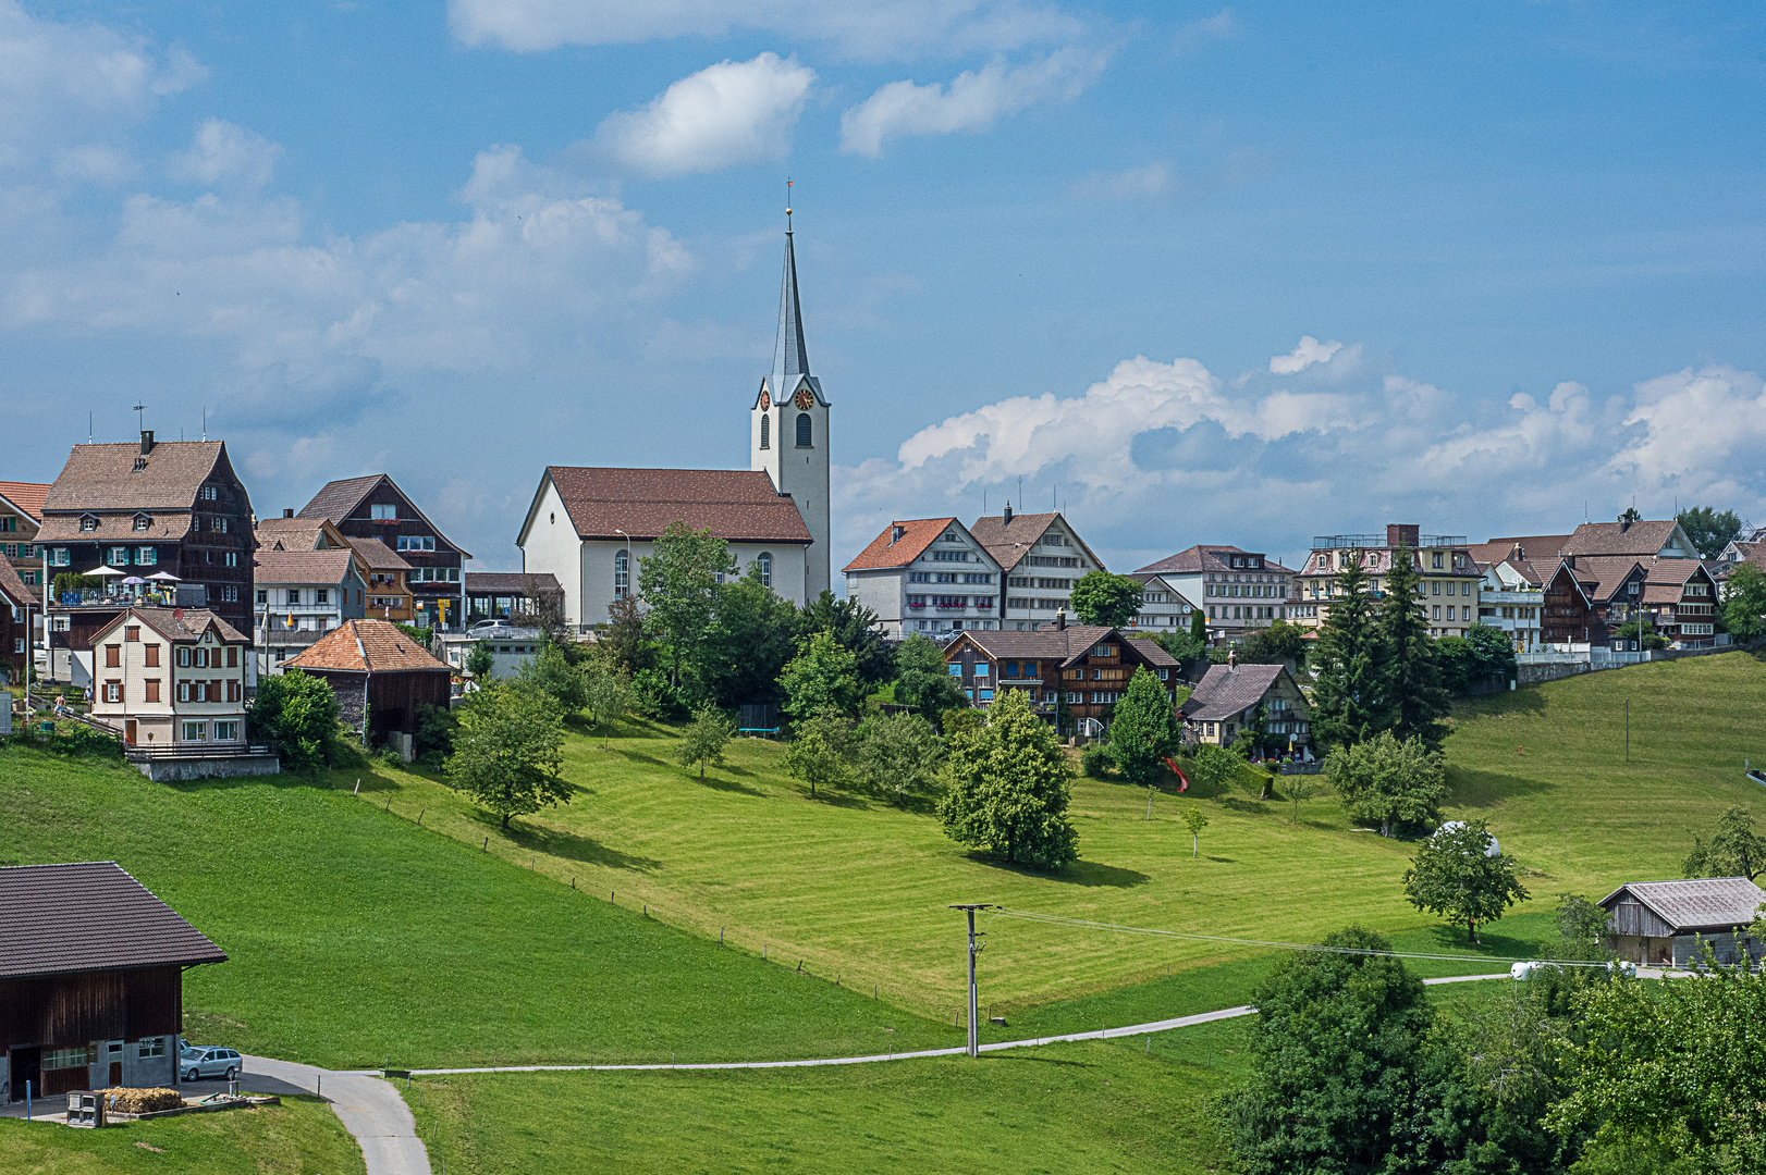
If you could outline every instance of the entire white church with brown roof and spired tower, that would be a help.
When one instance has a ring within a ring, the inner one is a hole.
[[[809,372],[796,293],[791,210],[772,374],[749,408],[747,469],[547,466],[516,545],[521,570],[563,588],[565,621],[608,623],[615,600],[638,595],[638,568],[671,522],[729,543],[738,573],[805,605],[832,586],[828,400]]]

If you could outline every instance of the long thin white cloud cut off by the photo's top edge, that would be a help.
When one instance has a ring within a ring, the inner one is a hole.
[[[1072,41],[1081,23],[1035,0],[450,0],[449,28],[516,53],[752,30],[902,60]]]

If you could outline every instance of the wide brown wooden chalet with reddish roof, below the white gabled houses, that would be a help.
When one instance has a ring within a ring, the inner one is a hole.
[[[1065,612],[1037,630],[962,630],[945,646],[945,665],[982,709],[1000,690],[1023,690],[1049,722],[1065,709],[1063,734],[1102,732],[1137,667],[1151,670],[1173,699],[1178,686],[1178,662],[1151,640],[1102,625],[1068,625]]]

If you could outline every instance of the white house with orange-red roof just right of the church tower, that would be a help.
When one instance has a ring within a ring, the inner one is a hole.
[[[890,640],[1000,626],[1000,565],[955,519],[890,522],[846,565],[846,596]]]

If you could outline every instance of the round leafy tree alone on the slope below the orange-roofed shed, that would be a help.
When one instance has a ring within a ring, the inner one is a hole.
[[[530,815],[570,799],[563,771],[563,723],[549,697],[487,681],[459,711],[449,787],[502,817]]]

